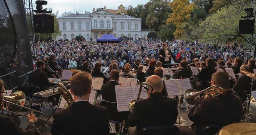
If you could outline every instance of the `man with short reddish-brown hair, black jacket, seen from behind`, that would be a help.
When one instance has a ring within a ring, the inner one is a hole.
[[[108,135],[109,119],[107,108],[88,102],[92,86],[92,76],[88,72],[78,72],[71,79],[71,94],[74,103],[53,115],[52,135]]]

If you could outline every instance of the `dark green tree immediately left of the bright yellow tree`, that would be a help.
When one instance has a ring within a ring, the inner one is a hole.
[[[166,24],[166,18],[171,13],[171,7],[168,5],[169,0],[150,0],[145,4],[149,14],[146,18],[146,25],[155,31],[159,30],[159,26]]]

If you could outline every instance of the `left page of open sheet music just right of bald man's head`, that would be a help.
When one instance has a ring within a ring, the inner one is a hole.
[[[167,90],[168,96],[181,95],[178,81],[176,79],[164,80],[164,86]]]

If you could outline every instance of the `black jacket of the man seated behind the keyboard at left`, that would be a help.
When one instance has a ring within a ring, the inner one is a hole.
[[[40,90],[47,90],[51,88],[51,83],[48,80],[47,73],[38,68],[30,74],[30,81],[31,84],[38,86]]]

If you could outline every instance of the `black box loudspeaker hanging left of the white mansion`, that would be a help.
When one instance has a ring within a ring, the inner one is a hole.
[[[54,33],[53,16],[48,14],[33,15],[35,33]]]

